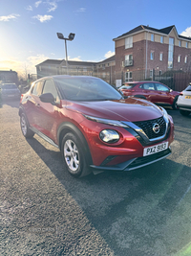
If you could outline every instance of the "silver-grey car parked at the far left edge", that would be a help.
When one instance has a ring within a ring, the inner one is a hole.
[[[2,100],[20,99],[21,97],[21,93],[15,83],[2,83],[0,93]]]

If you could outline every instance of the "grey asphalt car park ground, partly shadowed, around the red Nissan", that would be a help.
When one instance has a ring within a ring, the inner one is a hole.
[[[132,172],[74,178],[60,152],[0,108],[0,255],[191,255],[191,115],[172,154]]]

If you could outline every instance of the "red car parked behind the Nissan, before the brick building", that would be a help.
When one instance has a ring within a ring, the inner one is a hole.
[[[124,96],[135,96],[156,105],[172,106],[177,109],[180,92],[173,91],[158,81],[130,81],[118,89]]]

